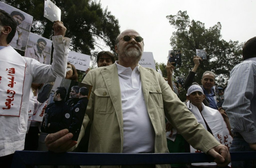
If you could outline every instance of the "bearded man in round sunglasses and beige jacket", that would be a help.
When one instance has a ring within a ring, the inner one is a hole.
[[[159,73],[138,65],[143,47],[138,32],[123,31],[115,41],[119,60],[91,70],[83,79],[93,86],[80,132],[92,122],[88,152],[168,153],[166,116],[192,146],[213,155],[218,166],[226,166],[230,162],[227,147],[198,124]],[[77,143],[70,140],[72,136],[64,129],[49,135],[45,142],[49,150],[63,152]],[[55,146],[55,141],[63,144]]]

